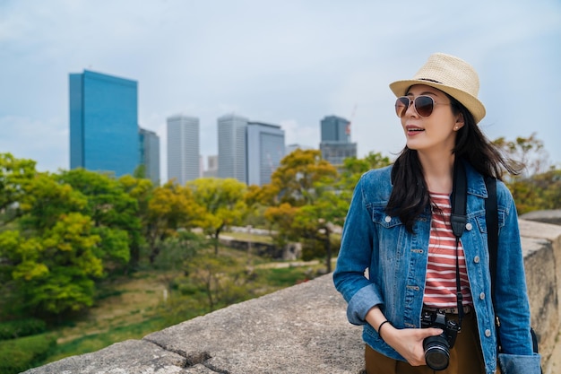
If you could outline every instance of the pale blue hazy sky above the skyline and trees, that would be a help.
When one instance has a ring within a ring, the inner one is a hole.
[[[393,158],[405,137],[388,84],[434,52],[478,71],[489,139],[535,133],[561,163],[559,0],[0,0],[0,152],[68,170],[68,75],[87,69],[138,82],[162,180],[177,114],[200,118],[205,159],[232,113],[316,149],[321,119],[345,117],[359,158]]]

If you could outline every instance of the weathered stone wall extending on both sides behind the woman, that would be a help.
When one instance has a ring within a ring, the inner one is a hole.
[[[559,331],[561,227],[521,220],[532,325],[546,373]],[[345,316],[332,274],[206,316],[25,371],[26,374],[358,374],[361,328]]]

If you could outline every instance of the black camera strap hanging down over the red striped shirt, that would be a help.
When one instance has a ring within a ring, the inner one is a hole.
[[[453,167],[453,187],[452,187],[452,213],[450,215],[450,223],[452,224],[453,235],[456,237],[456,300],[458,302],[458,327],[462,329],[463,319],[463,295],[462,283],[460,281],[460,258],[458,248],[460,246],[460,238],[462,238],[463,230],[468,222],[466,215],[466,204],[468,196],[468,180],[465,175],[465,167],[463,162],[456,157]]]

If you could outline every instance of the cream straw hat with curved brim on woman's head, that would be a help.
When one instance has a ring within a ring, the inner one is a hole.
[[[428,57],[413,79],[390,84],[395,96],[404,96],[413,84],[425,84],[444,91],[470,110],[475,123],[485,117],[485,107],[478,100],[479,77],[473,66],[461,58],[435,53]]]

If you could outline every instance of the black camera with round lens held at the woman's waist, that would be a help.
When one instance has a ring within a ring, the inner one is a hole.
[[[446,314],[440,310],[424,310],[421,314],[421,327],[435,327],[443,330],[441,335],[426,337],[423,341],[423,349],[425,350],[425,361],[430,369],[446,369],[450,361],[450,349],[456,341],[460,326],[456,321],[449,320]]]

